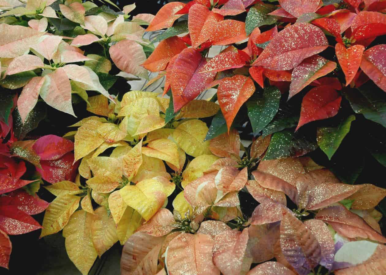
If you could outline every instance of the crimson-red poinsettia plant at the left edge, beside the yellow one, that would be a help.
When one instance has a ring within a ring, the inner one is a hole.
[[[16,97],[11,97],[11,104],[16,101]],[[30,216],[49,206],[36,194],[42,179],[48,182],[73,180],[78,163],[74,163],[73,143],[63,137],[47,135],[37,140],[18,140],[10,114],[15,107],[3,107],[0,119],[0,266],[8,268],[12,252],[8,235],[42,228]],[[35,169],[31,169],[31,165]]]

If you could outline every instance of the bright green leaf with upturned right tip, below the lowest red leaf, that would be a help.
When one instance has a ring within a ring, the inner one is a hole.
[[[351,122],[355,120],[355,116],[351,115],[347,119],[342,120],[335,127],[320,127],[317,129],[317,141],[320,149],[331,160],[337,149],[342,143],[344,137],[350,131]]]

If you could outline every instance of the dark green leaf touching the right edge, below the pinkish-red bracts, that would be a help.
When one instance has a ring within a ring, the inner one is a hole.
[[[343,94],[354,112],[386,127],[386,95],[372,84],[366,83],[359,90],[346,89]]]

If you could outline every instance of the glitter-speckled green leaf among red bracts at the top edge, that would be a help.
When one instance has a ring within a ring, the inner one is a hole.
[[[273,12],[275,10],[275,6],[271,4],[264,4],[262,2],[257,3],[253,7],[249,9],[247,14],[247,18],[245,18],[245,32],[247,35],[251,34],[251,32],[256,27],[261,27],[263,25],[272,25],[278,18],[268,15],[268,13]]]

